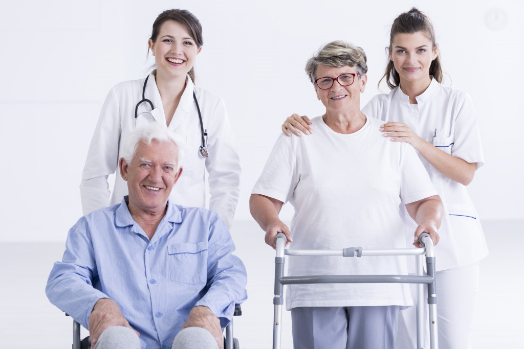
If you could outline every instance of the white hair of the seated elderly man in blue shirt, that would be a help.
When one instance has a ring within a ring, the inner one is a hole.
[[[158,122],[151,122],[148,125],[139,126],[127,135],[122,145],[122,157],[124,158],[124,161],[128,164],[133,161],[139,142],[145,142],[147,145],[151,145],[153,140],[160,143],[174,142],[174,144],[177,145],[178,171],[184,162],[185,144],[183,139],[166,126],[160,125]]]

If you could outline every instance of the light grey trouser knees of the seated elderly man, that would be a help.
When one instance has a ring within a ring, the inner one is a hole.
[[[188,327],[174,338],[171,349],[217,349],[213,335],[200,327]],[[95,349],[140,349],[140,339],[130,328],[115,326],[107,328],[96,342]]]

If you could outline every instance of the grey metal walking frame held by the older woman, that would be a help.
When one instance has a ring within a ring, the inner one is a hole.
[[[419,242],[424,246],[419,249],[363,249],[362,247],[348,247],[342,250],[287,250],[284,249],[286,235],[278,233],[275,237],[275,305],[273,321],[273,349],[280,349],[281,342],[281,319],[283,305],[283,285],[294,284],[368,284],[368,283],[399,283],[417,285],[417,348],[424,349],[425,327],[424,327],[424,301],[423,285],[428,288],[429,307],[429,336],[430,349],[438,349],[438,324],[436,314],[436,272],[435,254],[433,242],[429,234],[422,233]],[[400,256],[411,255],[416,261],[416,275],[308,275],[308,276],[284,276],[284,255],[290,256]],[[426,256],[427,275],[423,275],[423,255]]]

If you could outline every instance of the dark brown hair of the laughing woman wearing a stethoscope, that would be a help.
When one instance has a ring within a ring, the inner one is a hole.
[[[155,19],[155,22],[153,23],[153,29],[151,30],[151,37],[149,38],[153,43],[157,41],[158,33],[160,32],[160,27],[162,26],[163,22],[167,20],[174,20],[183,25],[185,29],[188,31],[191,38],[195,41],[196,48],[200,49],[202,47],[202,45],[204,44],[204,40],[202,39],[202,26],[200,25],[200,21],[198,20],[198,18],[195,17],[195,15],[193,15],[188,10],[182,10],[178,8],[165,10],[160,15],[158,15],[157,19]],[[191,68],[188,74],[189,77],[191,77],[191,81],[193,81],[194,84],[194,67]]]

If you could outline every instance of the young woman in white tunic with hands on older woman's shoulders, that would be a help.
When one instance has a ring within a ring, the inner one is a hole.
[[[488,250],[466,186],[484,157],[472,100],[460,90],[441,85],[439,56],[431,20],[417,8],[402,13],[391,27],[389,63],[383,76],[391,92],[375,96],[362,111],[385,122],[380,127],[384,137],[407,142],[418,151],[439,192],[444,204],[441,239],[435,246],[439,346],[468,349],[479,261]],[[312,132],[309,125],[307,117],[293,114],[282,130],[288,136],[288,129],[300,136],[300,131]],[[404,213],[406,231],[412,232],[412,222]],[[414,323],[413,307],[401,312],[397,347],[416,347]]]

